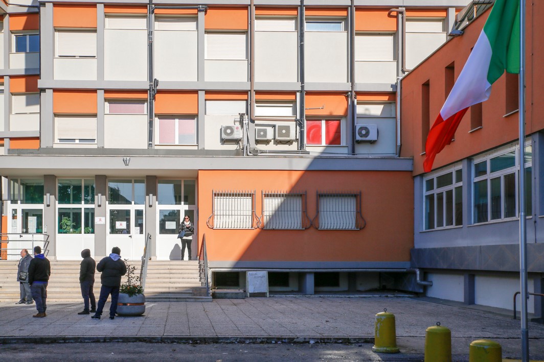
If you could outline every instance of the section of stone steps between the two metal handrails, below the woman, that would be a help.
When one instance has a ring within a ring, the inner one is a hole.
[[[150,260],[145,282],[146,301],[211,302],[206,274],[198,260]]]

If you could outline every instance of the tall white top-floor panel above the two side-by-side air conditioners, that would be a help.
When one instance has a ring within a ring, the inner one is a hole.
[[[255,80],[296,82],[298,78],[298,34],[255,33]]]

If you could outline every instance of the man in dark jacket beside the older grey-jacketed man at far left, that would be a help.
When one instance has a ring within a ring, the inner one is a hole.
[[[41,253],[41,247],[34,247],[34,259],[30,260],[28,266],[28,283],[30,284],[30,291],[32,297],[36,302],[36,309],[38,314],[33,317],[46,317],[45,313],[47,309],[47,283],[49,282],[49,276],[51,275],[51,264],[49,260]]]

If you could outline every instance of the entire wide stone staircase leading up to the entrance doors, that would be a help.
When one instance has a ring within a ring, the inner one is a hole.
[[[98,260],[97,260],[98,262]],[[47,300],[51,302],[82,302],[79,288],[79,264],[81,260],[50,260],[51,277],[47,286]],[[17,282],[17,260],[0,260],[0,302],[17,302],[20,297]],[[140,261],[129,261],[135,266],[135,276],[140,275]],[[147,267],[147,301],[211,301],[201,280],[199,261],[149,261]],[[126,276],[121,282],[126,281]],[[100,295],[100,273],[95,274],[95,297]]]

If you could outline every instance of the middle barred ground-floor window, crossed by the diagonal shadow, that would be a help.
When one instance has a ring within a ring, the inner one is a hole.
[[[263,191],[263,229],[306,229],[306,193]]]

